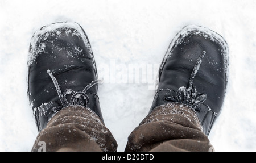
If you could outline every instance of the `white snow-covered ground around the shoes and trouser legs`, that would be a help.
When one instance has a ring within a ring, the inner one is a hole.
[[[0,151],[30,151],[38,134],[28,104],[27,54],[38,28],[79,23],[89,37],[106,126],[123,151],[147,115],[154,80],[172,38],[187,24],[222,35],[230,74],[223,110],[209,139],[216,151],[256,151],[256,1],[0,1]],[[135,71],[131,68],[140,68]]]

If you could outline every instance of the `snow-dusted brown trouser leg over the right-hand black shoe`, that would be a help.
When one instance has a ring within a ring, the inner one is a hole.
[[[213,147],[191,108],[167,103],[131,132],[125,151],[213,151]]]

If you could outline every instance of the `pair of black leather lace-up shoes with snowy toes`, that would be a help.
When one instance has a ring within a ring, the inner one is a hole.
[[[160,65],[148,116],[170,103],[185,106],[208,136],[224,102],[228,61],[228,45],[220,35],[204,27],[185,26]],[[92,47],[79,24],[53,23],[35,32],[28,53],[27,90],[39,132],[70,106],[89,108],[104,124],[98,83]]]

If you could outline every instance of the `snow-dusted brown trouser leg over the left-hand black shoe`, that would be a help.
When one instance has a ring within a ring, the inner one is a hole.
[[[57,112],[36,138],[32,151],[116,151],[117,142],[89,108],[73,105]]]

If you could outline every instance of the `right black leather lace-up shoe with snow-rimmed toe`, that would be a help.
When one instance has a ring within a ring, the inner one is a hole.
[[[228,45],[207,28],[185,26],[172,40],[159,69],[150,112],[168,102],[196,111],[208,136],[220,114],[228,82]]]

